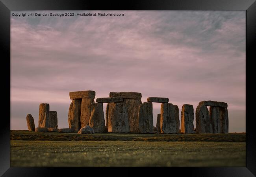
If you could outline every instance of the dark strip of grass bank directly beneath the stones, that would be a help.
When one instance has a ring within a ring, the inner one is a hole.
[[[36,133],[11,131],[11,140],[54,140],[54,141],[198,141],[198,142],[245,142],[245,133],[228,134],[135,134],[135,133]]]

